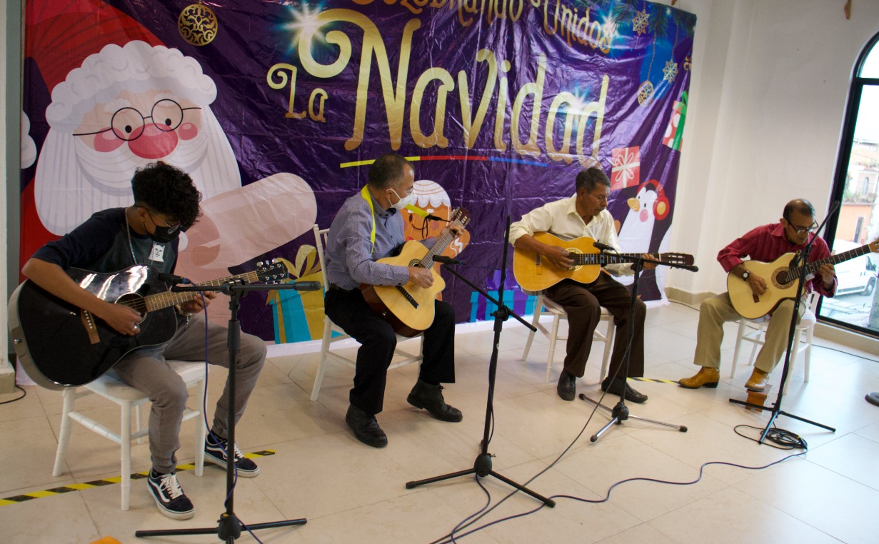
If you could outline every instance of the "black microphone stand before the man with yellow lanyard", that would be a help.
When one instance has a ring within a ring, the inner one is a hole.
[[[507,249],[508,249],[508,246],[510,245],[510,216],[509,215],[507,215],[507,217],[506,217],[506,230],[505,230],[504,237],[505,237],[504,262],[503,262],[503,265],[501,266],[501,272],[500,272],[500,286],[498,287],[498,299],[499,299],[498,301],[491,298],[489,296],[489,294],[487,294],[487,293],[485,293],[485,291],[483,291],[483,289],[473,285],[473,283],[470,282],[469,279],[461,276],[461,274],[459,274],[457,271],[455,271],[454,268],[452,268],[450,265],[446,265],[444,267],[445,270],[450,272],[455,278],[461,279],[461,281],[463,281],[464,283],[469,285],[469,287],[472,287],[477,293],[482,294],[486,299],[488,299],[489,301],[492,301],[498,305],[497,311],[492,312],[492,314],[491,314],[492,316],[495,317],[495,324],[494,324],[495,336],[494,336],[494,347],[491,350],[491,359],[489,362],[489,395],[488,395],[488,400],[485,403],[485,425],[483,428],[483,441],[480,443],[480,445],[482,446],[482,450],[480,451],[479,455],[476,456],[476,461],[473,464],[473,468],[468,468],[466,470],[461,470],[461,471],[453,472],[453,473],[446,474],[446,475],[434,476],[432,478],[427,478],[425,480],[418,480],[416,482],[406,482],[406,489],[411,490],[412,488],[418,487],[419,485],[424,485],[425,483],[441,482],[443,480],[448,480],[449,478],[455,478],[457,476],[476,474],[477,476],[484,478],[485,476],[490,475],[490,476],[494,476],[494,477],[498,478],[498,480],[500,480],[501,482],[505,482],[506,484],[516,488],[519,491],[524,491],[525,493],[527,493],[531,497],[536,498],[537,500],[541,501],[541,503],[546,504],[547,506],[552,508],[553,506],[556,505],[556,501],[552,500],[551,498],[543,497],[542,495],[539,495],[539,494],[535,493],[534,491],[529,490],[524,485],[517,483],[517,482],[513,482],[511,479],[507,478],[506,476],[498,474],[497,472],[495,472],[494,470],[491,469],[492,455],[491,455],[491,453],[489,453],[488,448],[489,448],[489,441],[491,439],[491,420],[494,416],[494,406],[493,406],[494,386],[495,386],[495,374],[498,371],[498,346],[500,345],[500,331],[504,326],[504,322],[510,316],[518,319],[519,323],[524,324],[528,329],[536,330],[536,329],[534,329],[534,326],[532,326],[531,323],[528,323],[527,321],[522,319],[520,316],[517,316],[510,308],[507,308],[503,302],[504,301],[504,283],[506,281]]]

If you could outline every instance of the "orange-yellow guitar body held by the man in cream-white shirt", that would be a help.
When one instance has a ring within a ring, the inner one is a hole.
[[[568,253],[586,255],[599,253],[592,245],[592,238],[582,237],[564,241],[548,232],[534,233],[538,242],[554,245],[567,250]],[[563,279],[573,279],[580,283],[592,283],[599,277],[601,265],[575,265],[573,268],[558,268],[534,251],[513,248],[512,273],[519,282],[519,287],[527,291],[542,291],[556,285]]]

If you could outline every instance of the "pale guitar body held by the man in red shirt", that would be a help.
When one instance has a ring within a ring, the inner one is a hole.
[[[788,279],[788,265],[795,253],[785,253],[771,263],[744,261],[745,270],[766,280],[766,293],[757,296],[744,279],[730,273],[726,277],[726,288],[730,292],[732,307],[745,319],[757,319],[772,312],[781,301],[796,298],[795,278]],[[780,277],[781,275],[781,277]]]

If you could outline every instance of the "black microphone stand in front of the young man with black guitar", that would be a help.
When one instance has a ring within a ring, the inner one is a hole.
[[[305,282],[308,283],[308,282]],[[238,308],[240,305],[238,301],[244,294],[247,294],[250,291],[269,291],[272,289],[296,289],[297,286],[295,283],[287,283],[280,285],[241,285],[239,281],[232,280],[226,283],[223,283],[220,287],[220,291],[223,294],[229,295],[229,309],[232,312],[232,315],[229,317],[229,332],[228,332],[228,340],[227,345],[229,347],[229,415],[227,419],[227,429],[229,436],[227,439],[227,447],[229,449],[226,452],[227,462],[226,462],[226,511],[224,511],[220,515],[220,519],[217,520],[218,526],[216,527],[207,527],[207,528],[194,528],[194,529],[165,529],[165,530],[156,530],[156,531],[136,531],[134,533],[135,537],[149,537],[149,536],[173,536],[178,534],[216,534],[220,537],[220,540],[223,540],[229,544],[235,542],[235,540],[241,536],[242,527],[245,530],[252,531],[256,529],[269,529],[273,527],[285,527],[285,526],[298,526],[304,525],[307,523],[307,519],[286,519],[283,521],[272,521],[268,523],[258,523],[253,524],[251,526],[243,525],[235,515],[235,374],[236,374],[236,361],[238,359],[238,352],[241,351],[241,323],[238,321]],[[301,287],[299,287],[301,289]],[[180,293],[186,291],[193,291],[197,293],[201,293],[204,291],[216,291],[217,287],[215,286],[193,286],[193,287],[171,287],[171,291]],[[204,417],[204,414],[202,414]]]

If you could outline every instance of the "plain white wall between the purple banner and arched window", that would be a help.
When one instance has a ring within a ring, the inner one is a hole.
[[[670,4],[670,3],[665,3]],[[789,199],[829,204],[854,62],[879,32],[879,2],[681,0],[697,16],[672,250],[700,272],[669,285],[723,292],[717,251],[778,221]]]

